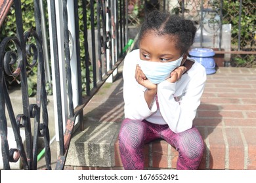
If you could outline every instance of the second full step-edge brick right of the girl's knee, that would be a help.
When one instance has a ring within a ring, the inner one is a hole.
[[[244,169],[244,143],[238,128],[225,128],[228,140],[228,169]]]

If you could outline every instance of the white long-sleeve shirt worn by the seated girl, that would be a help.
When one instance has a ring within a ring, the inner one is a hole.
[[[146,88],[135,79],[139,60],[139,50],[133,50],[127,54],[123,63],[125,118],[168,124],[174,133],[190,129],[205,85],[203,65],[190,59],[194,64],[177,82],[165,80],[158,84],[157,97],[150,109],[144,98]]]

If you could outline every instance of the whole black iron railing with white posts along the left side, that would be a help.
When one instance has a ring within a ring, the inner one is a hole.
[[[0,40],[0,131],[3,169],[11,169],[10,164],[18,160],[22,161],[23,169],[37,169],[41,139],[45,146],[46,169],[52,169],[45,81],[45,55],[48,50],[43,49],[43,31],[46,29],[42,27],[43,1],[33,1],[35,27],[29,30],[24,30],[22,20],[22,15],[26,13],[22,12],[22,7],[26,6],[25,1],[0,2],[0,28],[6,24],[16,25],[16,33],[13,36]],[[51,47],[49,52],[59,141],[56,169],[64,168],[72,131],[75,127],[83,130],[83,107],[108,78],[114,77],[114,72],[125,56],[126,52],[123,52],[122,48],[127,42],[126,4],[125,0],[47,1],[50,27],[47,35],[50,37],[51,46],[46,48]],[[15,22],[5,21],[11,12],[14,12]],[[31,71],[35,67],[36,93],[35,101],[32,101],[28,95],[28,70]],[[85,76],[81,73],[85,73]],[[20,114],[13,110],[16,101],[10,99],[8,77],[18,80],[20,84]],[[74,88],[77,92],[74,92]],[[14,134],[14,148],[9,146],[9,127]],[[21,131],[24,131],[24,135]]]

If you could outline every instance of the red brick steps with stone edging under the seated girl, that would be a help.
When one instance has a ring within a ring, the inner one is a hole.
[[[200,169],[256,169],[256,69],[219,67],[207,75],[194,120],[205,142]],[[117,135],[123,120],[123,79],[105,83],[84,108],[65,169],[123,169]],[[144,146],[145,169],[175,169],[177,151],[165,141]]]

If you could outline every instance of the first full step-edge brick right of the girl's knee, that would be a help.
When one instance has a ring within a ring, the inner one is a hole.
[[[208,127],[209,133],[209,168],[225,169],[225,143],[223,140],[223,131],[220,127]]]

